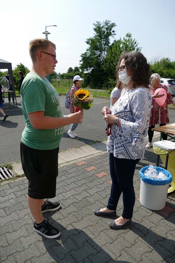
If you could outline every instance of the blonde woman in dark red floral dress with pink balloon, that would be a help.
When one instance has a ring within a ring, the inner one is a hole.
[[[175,101],[168,91],[167,86],[160,84],[160,75],[158,73],[154,73],[150,77],[150,93],[152,97],[152,108],[146,148],[150,148],[153,145],[152,139],[154,131],[151,129],[155,127],[155,124],[164,126],[169,123],[168,104],[172,103],[175,107]],[[167,134],[162,133],[162,139],[167,140]]]

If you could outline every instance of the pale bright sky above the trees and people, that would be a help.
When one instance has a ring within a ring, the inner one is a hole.
[[[79,66],[88,47],[85,40],[94,34],[93,23],[105,20],[117,25],[115,39],[130,32],[148,61],[175,60],[174,0],[8,0],[0,12],[0,58],[12,68],[22,63],[31,70],[29,41],[45,38],[42,32],[50,25],[57,25],[47,27],[48,39],[57,46],[56,72]]]

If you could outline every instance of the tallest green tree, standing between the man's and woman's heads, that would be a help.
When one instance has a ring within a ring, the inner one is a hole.
[[[93,25],[95,34],[85,41],[89,47],[85,53],[81,54],[80,69],[89,72],[92,86],[101,87],[104,79],[103,64],[110,45],[110,38],[115,35],[113,28],[116,24],[106,20],[103,23],[96,21]]]

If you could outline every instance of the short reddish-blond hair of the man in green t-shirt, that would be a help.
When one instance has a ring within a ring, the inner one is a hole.
[[[29,43],[29,54],[32,62],[36,61],[38,51],[47,51],[49,45],[52,45],[56,50],[56,45],[48,39],[36,38],[34,40],[31,40]]]

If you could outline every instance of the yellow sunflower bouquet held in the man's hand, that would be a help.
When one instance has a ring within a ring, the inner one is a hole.
[[[85,89],[79,89],[74,93],[74,96],[71,95],[70,98],[74,101],[74,105],[80,107],[80,110],[85,109],[89,110],[93,106],[92,102],[94,101],[94,96],[90,95],[90,92]]]

